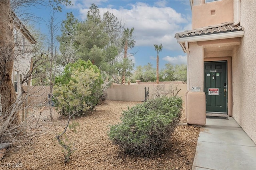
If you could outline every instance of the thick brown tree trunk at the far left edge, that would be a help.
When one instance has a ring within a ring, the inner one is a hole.
[[[0,94],[3,115],[8,114],[8,108],[16,101],[16,94],[12,84],[12,70],[14,63],[14,37],[10,10],[10,0],[0,1]],[[18,123],[19,115],[16,114]]]

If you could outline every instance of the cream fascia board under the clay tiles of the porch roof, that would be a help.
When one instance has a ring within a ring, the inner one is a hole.
[[[184,43],[184,42],[198,42],[198,41],[209,41],[209,40],[216,40],[216,39],[228,39],[228,38],[237,38],[237,37],[243,37],[244,31],[234,31],[234,32],[228,32],[228,33],[216,33],[216,34],[210,34],[210,35],[198,35],[193,37],[182,37],[178,38],[178,43]]]

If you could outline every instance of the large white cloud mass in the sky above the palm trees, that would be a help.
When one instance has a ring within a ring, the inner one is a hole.
[[[177,32],[184,31],[184,27],[191,27],[190,23],[182,14],[176,12],[173,8],[166,7],[165,1],[156,3],[159,7],[149,6],[144,2],[136,2],[136,4],[130,4],[130,9],[99,8],[99,10],[101,16],[104,12],[110,11],[119,20],[124,21],[125,27],[134,27],[136,46],[152,46],[153,44],[162,43],[166,49],[180,49],[174,35]],[[87,6],[80,8],[82,20],[86,20],[88,10]]]

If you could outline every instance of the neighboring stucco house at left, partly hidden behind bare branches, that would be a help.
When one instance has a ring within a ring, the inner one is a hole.
[[[14,33],[14,67],[12,70],[12,83],[16,95],[20,94],[20,80],[24,79],[26,73],[30,70],[30,63],[32,62],[32,50],[36,40],[28,31],[25,25],[12,12],[13,18],[13,33]],[[31,81],[28,81],[31,85]],[[28,86],[28,84],[24,84]]]

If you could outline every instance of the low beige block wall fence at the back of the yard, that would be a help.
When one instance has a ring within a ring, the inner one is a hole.
[[[140,82],[131,83],[131,84],[112,84],[107,89],[106,100],[119,100],[119,101],[130,101],[130,102],[142,102],[145,99],[145,87],[149,89],[149,99],[153,97],[153,90],[156,82]],[[178,96],[180,96],[185,101],[185,93],[187,89],[187,85],[183,82],[160,82],[160,86],[164,88],[164,92],[167,90],[177,90],[181,89],[178,92]],[[24,88],[24,89],[27,89]],[[48,94],[50,91],[50,86],[31,86],[29,90],[30,96],[28,99],[28,104],[33,104],[35,106],[41,106],[43,104],[47,104]],[[168,95],[170,96],[170,95]]]

